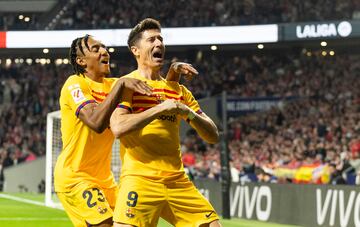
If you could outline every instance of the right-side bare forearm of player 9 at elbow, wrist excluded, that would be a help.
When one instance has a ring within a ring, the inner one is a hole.
[[[196,114],[195,118],[190,121],[190,125],[207,143],[215,144],[219,142],[219,131],[215,123],[204,113]]]

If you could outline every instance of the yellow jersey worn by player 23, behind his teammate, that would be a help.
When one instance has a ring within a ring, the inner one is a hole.
[[[70,76],[60,94],[62,151],[55,166],[55,191],[69,191],[81,181],[91,181],[103,188],[115,184],[111,172],[114,136],[110,129],[96,133],[79,118],[89,103],[101,103],[117,78],[95,82],[84,75]]]

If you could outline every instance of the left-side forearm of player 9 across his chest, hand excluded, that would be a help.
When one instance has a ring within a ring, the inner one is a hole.
[[[110,118],[111,131],[116,138],[120,138],[127,133],[144,128],[162,112],[160,105],[136,114],[117,114],[115,111]]]

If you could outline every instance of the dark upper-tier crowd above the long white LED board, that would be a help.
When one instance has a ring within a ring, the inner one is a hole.
[[[145,17],[156,16],[163,27],[228,26],[338,19],[359,19],[356,0],[71,0],[62,1],[66,10],[59,12],[54,29],[129,28]],[[215,2],[214,4],[211,4]],[[326,7],[324,7],[326,5]],[[60,9],[59,9],[60,10]],[[52,14],[54,12],[51,11]],[[29,22],[18,15],[0,13],[0,30],[42,29],[32,13]],[[57,15],[54,14],[55,18]]]

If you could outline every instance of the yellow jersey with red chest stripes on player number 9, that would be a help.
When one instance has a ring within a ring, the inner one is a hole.
[[[153,87],[153,95],[146,96],[125,90],[119,105],[132,113],[140,113],[166,99],[175,99],[195,112],[201,109],[191,92],[177,82],[147,80],[133,71],[126,77],[146,81]],[[143,176],[154,181],[171,181],[184,174],[181,161],[180,116],[160,115],[144,128],[135,130],[120,140],[121,176]]]

